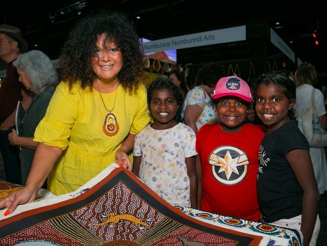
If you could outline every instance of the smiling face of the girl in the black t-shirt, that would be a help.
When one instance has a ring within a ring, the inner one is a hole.
[[[290,121],[288,110],[295,102],[290,102],[277,85],[262,84],[257,89],[256,113],[268,127],[268,133]]]

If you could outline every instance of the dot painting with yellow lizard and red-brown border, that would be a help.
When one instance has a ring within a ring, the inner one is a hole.
[[[0,221],[0,245],[259,245],[261,239],[186,215],[124,168],[78,197]]]

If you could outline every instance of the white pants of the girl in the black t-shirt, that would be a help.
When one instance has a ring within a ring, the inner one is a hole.
[[[301,217],[302,215],[290,219],[280,219],[269,224],[280,226],[280,227],[286,227],[290,229],[296,229],[299,232],[301,237],[301,242],[303,243],[303,235],[301,232],[301,221],[302,221]],[[319,216],[317,215],[317,219],[315,220],[315,225],[310,239],[310,244],[309,244],[310,246],[315,246],[319,235],[319,231],[320,231],[320,220],[319,220]]]

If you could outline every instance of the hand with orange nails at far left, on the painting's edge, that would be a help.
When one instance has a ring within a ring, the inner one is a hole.
[[[25,187],[22,190],[10,194],[8,197],[0,201],[0,208],[7,207],[6,215],[15,211],[19,204],[33,202],[35,199],[35,188]],[[9,212],[7,212],[9,211]]]

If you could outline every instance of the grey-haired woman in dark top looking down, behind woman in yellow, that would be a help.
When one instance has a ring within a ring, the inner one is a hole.
[[[17,68],[19,81],[35,93],[21,122],[18,122],[19,133],[13,130],[9,134],[10,143],[21,147],[22,184],[25,185],[38,145],[33,141],[34,132],[48,107],[58,82],[58,75],[50,58],[39,50],[20,54],[13,65]]]

